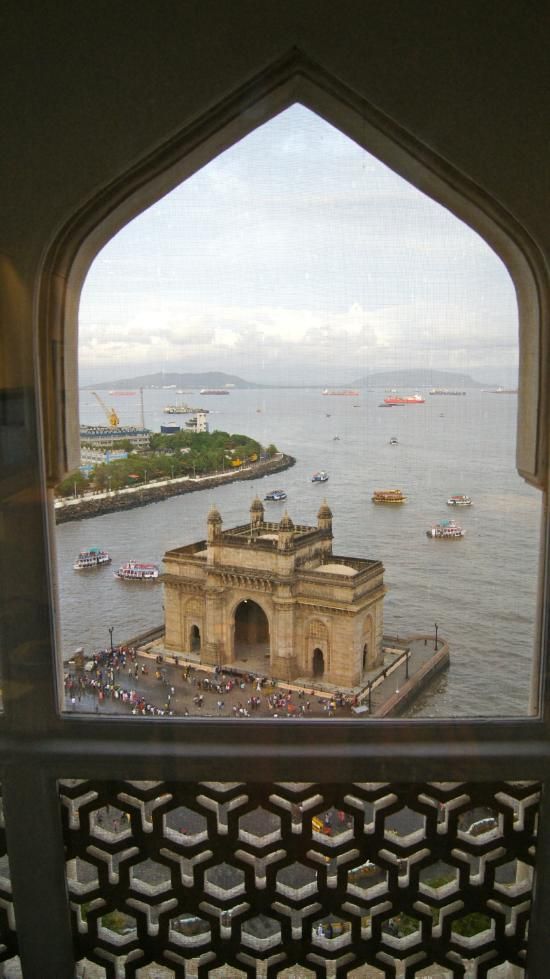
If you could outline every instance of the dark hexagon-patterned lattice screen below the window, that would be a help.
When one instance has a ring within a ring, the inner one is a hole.
[[[86,979],[524,974],[538,784],[60,791]]]

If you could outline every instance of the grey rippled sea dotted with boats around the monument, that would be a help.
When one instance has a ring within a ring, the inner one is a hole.
[[[402,392],[405,393],[405,392]],[[406,392],[412,393],[412,392]],[[112,569],[129,559],[161,562],[170,548],[206,536],[215,503],[225,527],[248,520],[252,499],[284,489],[266,503],[268,519],[285,509],[296,523],[316,523],[326,499],[333,511],[333,551],[382,561],[385,633],[438,635],[450,668],[411,708],[410,716],[518,716],[528,713],[537,636],[537,583],[542,497],[515,468],[517,396],[468,390],[464,396],[421,392],[424,404],[381,407],[387,392],[323,395],[321,389],[232,389],[227,396],[143,391],[145,424],[159,431],[176,401],[205,406],[210,430],[244,433],[296,458],[275,476],[228,483],[120,513],[61,524],[56,530],[59,637],[64,659],[143,632],[163,621],[159,584],[120,581]],[[105,394],[121,423],[140,424],[140,396]],[[81,392],[81,422],[104,423],[90,391]],[[397,444],[390,444],[390,439]],[[329,474],[313,483],[317,470]],[[378,506],[375,489],[399,488],[407,502]],[[451,508],[465,493],[473,506]],[[458,540],[426,531],[454,518]],[[76,572],[78,552],[101,546],[112,566]]]

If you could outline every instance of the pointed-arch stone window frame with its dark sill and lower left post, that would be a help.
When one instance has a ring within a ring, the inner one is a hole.
[[[547,483],[546,401],[542,385],[543,307],[549,294],[544,262],[517,221],[448,161],[422,145],[322,68],[293,52],[206,117],[169,139],[81,210],[58,234],[45,257],[37,302],[40,339],[40,433],[47,480],[53,486],[74,467],[78,450],[75,383],[80,290],[100,248],[129,220],[263,122],[300,102],[378,156],[414,186],[478,231],[503,259],[516,285],[520,315],[520,397],[517,465],[541,489]],[[53,540],[52,497],[45,519]],[[522,719],[384,720],[368,725],[334,720],[296,722],[89,718],[64,716],[55,633],[34,673],[24,673],[16,650],[4,657],[14,683],[24,679],[33,697],[9,693],[0,720],[4,808],[17,928],[28,974],[70,974],[63,846],[57,780],[163,777],[241,780],[251,766],[270,781],[308,777],[326,781],[544,780],[549,761],[548,671],[540,651],[548,639],[548,521],[541,577],[538,654],[532,716]],[[53,575],[49,594],[55,608]],[[544,648],[547,648],[547,642]],[[35,708],[33,713],[33,708]],[[250,723],[254,727],[251,737]],[[550,853],[544,793],[539,865]],[[28,873],[33,866],[34,873]],[[544,940],[550,886],[540,874],[532,915],[529,969],[546,969]],[[37,900],[37,894],[41,900]],[[55,949],[49,937],[55,934]],[[48,962],[42,950],[50,949]],[[33,971],[34,969],[34,971]]]

